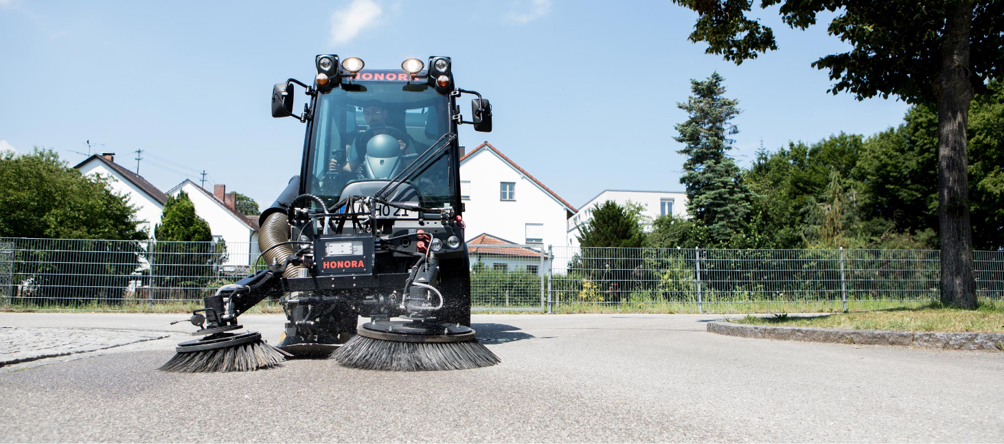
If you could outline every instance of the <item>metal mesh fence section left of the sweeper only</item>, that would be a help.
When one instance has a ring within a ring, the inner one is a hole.
[[[0,298],[12,309],[171,310],[257,260],[249,243],[0,239]]]

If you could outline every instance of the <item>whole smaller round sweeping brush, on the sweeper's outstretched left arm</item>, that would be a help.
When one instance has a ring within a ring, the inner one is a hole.
[[[158,370],[165,372],[247,372],[274,367],[291,356],[265,344],[261,334],[217,333],[205,338],[183,342],[177,352]]]

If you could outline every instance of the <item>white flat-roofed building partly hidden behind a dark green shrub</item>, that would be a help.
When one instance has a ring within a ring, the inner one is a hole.
[[[578,212],[568,217],[565,245],[578,247],[578,228],[592,218],[592,210],[596,205],[606,200],[613,200],[623,205],[629,201],[640,203],[645,207],[643,214],[650,219],[660,215],[673,214],[677,217],[687,217],[687,193],[683,191],[637,191],[628,189],[604,189],[595,197],[579,207]],[[643,228],[646,232],[652,230],[652,225]]]

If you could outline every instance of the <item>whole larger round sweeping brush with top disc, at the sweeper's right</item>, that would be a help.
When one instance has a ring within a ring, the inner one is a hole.
[[[460,325],[383,321],[360,326],[354,338],[331,354],[345,367],[423,372],[466,370],[502,362]]]

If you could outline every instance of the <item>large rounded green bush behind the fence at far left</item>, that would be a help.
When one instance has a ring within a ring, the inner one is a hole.
[[[12,240],[20,301],[65,307],[118,300],[140,266],[136,209],[107,178],[83,176],[52,150],[0,154],[0,238]],[[110,241],[99,241],[110,240]]]

